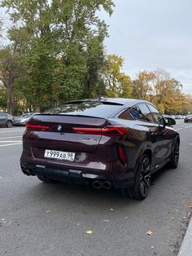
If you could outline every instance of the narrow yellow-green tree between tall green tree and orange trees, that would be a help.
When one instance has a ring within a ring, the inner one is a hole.
[[[122,72],[124,59],[118,55],[107,55],[103,65],[103,82],[107,96],[129,98],[132,92],[131,79]]]

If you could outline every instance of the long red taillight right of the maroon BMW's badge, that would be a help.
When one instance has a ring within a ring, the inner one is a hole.
[[[125,135],[128,131],[126,127],[123,126],[107,126],[105,128],[82,128],[74,127],[74,131],[82,134],[88,135],[106,135],[106,136],[120,136]]]

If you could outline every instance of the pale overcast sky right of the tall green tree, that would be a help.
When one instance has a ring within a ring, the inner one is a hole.
[[[163,68],[192,94],[192,0],[114,0],[108,54],[124,57],[124,72]]]

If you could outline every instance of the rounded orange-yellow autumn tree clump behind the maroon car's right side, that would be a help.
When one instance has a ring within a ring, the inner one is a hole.
[[[133,97],[150,100],[162,113],[183,113],[189,108],[189,99],[181,89],[181,82],[163,69],[140,72],[133,81]]]

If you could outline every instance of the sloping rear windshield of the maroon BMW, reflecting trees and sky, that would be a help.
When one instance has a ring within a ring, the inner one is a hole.
[[[112,114],[118,113],[122,109],[122,106],[122,104],[108,102],[69,103],[50,109],[46,113],[89,117],[110,117]]]

